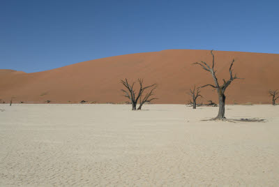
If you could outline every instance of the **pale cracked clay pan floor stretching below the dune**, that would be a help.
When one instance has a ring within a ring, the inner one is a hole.
[[[0,109],[0,186],[279,186],[279,106]]]

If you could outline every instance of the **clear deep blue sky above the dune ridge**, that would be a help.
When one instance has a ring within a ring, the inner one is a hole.
[[[279,53],[279,1],[0,0],[0,68],[169,49]]]

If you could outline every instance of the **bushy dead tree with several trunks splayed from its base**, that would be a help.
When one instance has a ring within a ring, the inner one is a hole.
[[[124,89],[121,89],[121,91],[123,91],[125,93],[125,97],[126,98],[129,98],[130,99],[130,103],[132,103],[132,110],[141,110],[142,109],[142,105],[144,103],[149,103],[151,100],[154,100],[154,99],[157,99],[157,98],[150,98],[151,96],[153,96],[153,91],[154,89],[156,89],[156,84],[152,84],[150,86],[147,86],[147,87],[143,87],[143,79],[138,79],[137,80],[140,84],[140,89],[139,89],[139,92],[136,93],[135,92],[135,89],[134,89],[134,85],[135,85],[135,82],[133,82],[133,84],[129,84],[128,83],[128,80],[125,79],[124,80],[121,80],[121,84],[124,85],[124,87],[126,87],[126,90]],[[148,89],[148,88],[151,88],[151,91],[149,91],[149,93],[146,93],[146,95],[142,98],[142,94],[144,93],[144,90]],[[136,96],[137,94],[137,96]],[[140,107],[138,107],[137,109],[137,101],[140,99]]]

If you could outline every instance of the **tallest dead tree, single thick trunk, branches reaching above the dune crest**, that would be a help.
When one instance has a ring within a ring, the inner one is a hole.
[[[209,73],[211,73],[215,86],[213,84],[206,84],[201,88],[209,86],[217,90],[218,98],[219,98],[219,112],[217,117],[214,119],[225,119],[225,100],[226,100],[225,90],[227,89],[227,87],[229,87],[229,84],[231,84],[233,80],[240,79],[240,78],[237,77],[236,74],[234,76],[232,75],[232,66],[234,65],[234,59],[232,59],[231,66],[229,66],[229,80],[226,81],[223,79],[224,83],[220,86],[220,84],[218,83],[218,79],[216,77],[216,70],[214,70],[213,50],[211,50],[211,55],[213,58],[211,67],[204,61],[196,62],[194,64],[198,64],[199,66],[202,66],[204,70],[209,71]]]

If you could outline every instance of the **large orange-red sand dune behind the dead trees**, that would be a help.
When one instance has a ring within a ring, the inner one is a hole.
[[[244,80],[234,80],[226,90],[227,103],[271,103],[269,89],[279,89],[279,54],[215,51],[217,77],[220,83],[229,78],[234,58],[234,73]],[[130,82],[144,78],[146,84],[158,83],[153,103],[187,103],[188,90],[213,84],[209,72],[196,61],[212,62],[209,50],[164,50],[126,54],[75,63],[38,73],[0,70],[0,99],[18,103],[124,103],[121,79]],[[211,87],[202,89],[203,99],[218,101]]]

